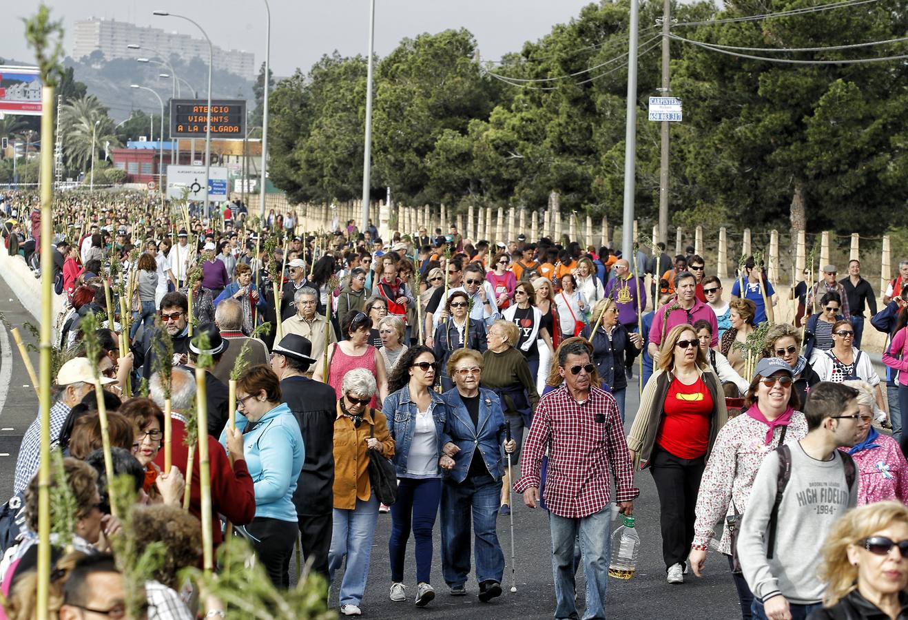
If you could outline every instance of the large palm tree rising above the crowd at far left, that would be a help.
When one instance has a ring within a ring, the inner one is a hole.
[[[97,122],[97,129],[94,123]],[[63,153],[68,168],[86,170],[92,161],[92,135],[94,149],[105,142],[120,146],[114,132],[114,121],[94,94],[85,95],[66,103],[60,109],[60,131],[63,133]]]

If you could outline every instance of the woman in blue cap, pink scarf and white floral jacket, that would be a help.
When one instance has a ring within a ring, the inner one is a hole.
[[[807,434],[807,420],[797,390],[792,389],[792,369],[779,358],[757,362],[754,378],[745,397],[746,410],[719,430],[716,444],[706,462],[696,496],[694,543],[688,563],[696,576],[706,566],[706,546],[720,521],[740,522],[746,512],[747,499],[756,472],[767,454],[779,445],[793,444]],[[719,551],[728,558],[732,569],[741,614],[749,620],[753,595],[732,562],[728,527],[722,533]]]

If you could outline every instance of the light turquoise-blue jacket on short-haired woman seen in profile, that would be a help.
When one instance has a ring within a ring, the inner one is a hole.
[[[247,424],[248,420],[237,412],[236,428],[246,428]],[[221,443],[227,447],[226,427]],[[242,436],[242,451],[255,488],[255,516],[296,523],[293,492],[306,455],[300,423],[286,403],[271,409]]]

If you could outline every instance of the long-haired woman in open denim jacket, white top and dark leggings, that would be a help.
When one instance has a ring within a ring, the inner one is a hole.
[[[405,601],[403,564],[410,528],[416,540],[415,603],[429,605],[435,590],[429,585],[432,569],[432,527],[439,512],[441,494],[441,436],[446,408],[441,395],[432,390],[438,363],[432,349],[407,349],[388,379],[390,396],[382,410],[395,441],[398,498],[391,507],[391,536],[388,553],[391,563],[392,601]]]

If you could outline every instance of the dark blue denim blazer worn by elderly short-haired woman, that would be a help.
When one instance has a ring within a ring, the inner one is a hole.
[[[504,475],[501,459],[501,444],[505,441],[505,414],[501,410],[501,401],[491,389],[479,388],[479,423],[473,426],[467,406],[460,399],[457,388],[449,389],[443,395],[448,405],[448,419],[441,436],[441,445],[449,441],[456,444],[460,451],[454,455],[454,468],[449,476],[455,482],[467,479],[470,462],[476,448],[489,469],[489,474],[500,480]]]

